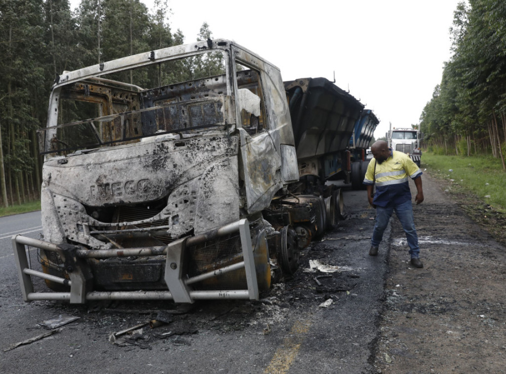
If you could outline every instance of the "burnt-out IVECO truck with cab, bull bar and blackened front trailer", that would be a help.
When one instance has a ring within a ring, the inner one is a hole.
[[[258,299],[292,275],[343,215],[325,181],[363,109],[301,82],[222,39],[63,72],[38,131],[44,238],[12,239],[24,299]]]

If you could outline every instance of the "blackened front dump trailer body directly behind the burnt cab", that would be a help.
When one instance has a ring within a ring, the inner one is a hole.
[[[301,179],[350,182],[349,140],[364,108],[325,78],[285,82]]]

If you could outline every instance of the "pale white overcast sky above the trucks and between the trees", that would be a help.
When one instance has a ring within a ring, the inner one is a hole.
[[[148,9],[153,0],[141,0]],[[278,66],[283,80],[325,77],[349,90],[381,121],[374,133],[410,127],[450,58],[459,0],[169,0],[169,24],[185,42],[207,22]],[[72,0],[72,6],[79,0]]]

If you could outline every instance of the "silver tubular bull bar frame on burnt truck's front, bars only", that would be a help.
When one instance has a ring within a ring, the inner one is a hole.
[[[204,243],[239,231],[243,261],[220,269],[188,277],[183,273],[183,254],[187,247]],[[16,235],[12,237],[14,256],[19,273],[21,292],[25,301],[68,300],[72,304],[82,304],[90,300],[174,300],[177,303],[192,303],[202,299],[250,299],[258,300],[259,287],[255,269],[254,249],[251,246],[249,222],[241,219],[205,234],[179,239],[166,247],[86,250],[70,244],[51,244],[37,239]],[[65,279],[30,268],[25,246],[57,252],[62,257],[70,279]],[[92,291],[93,277],[85,263],[86,258],[110,258],[127,256],[165,255],[165,283],[167,291]],[[246,290],[206,290],[195,291],[188,286],[201,280],[215,277],[240,268],[245,269]],[[62,285],[70,286],[70,292],[34,292],[32,276]]]

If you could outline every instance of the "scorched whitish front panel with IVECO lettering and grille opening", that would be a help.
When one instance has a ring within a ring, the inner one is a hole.
[[[107,248],[109,241],[92,232],[153,227],[176,239],[239,219],[238,141],[215,134],[46,161],[47,240]],[[162,205],[146,210],[148,202]]]

